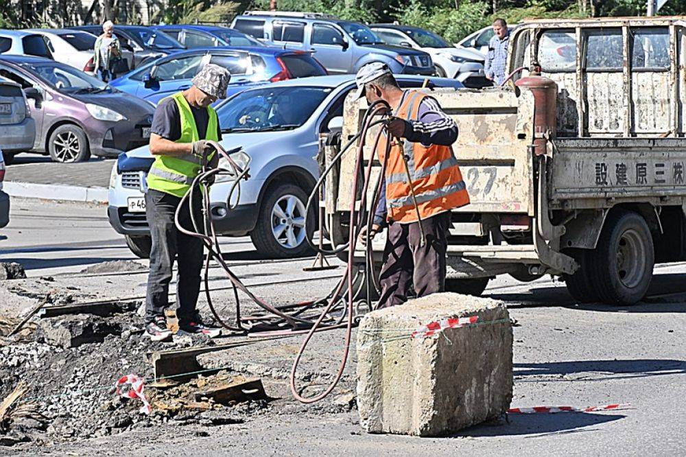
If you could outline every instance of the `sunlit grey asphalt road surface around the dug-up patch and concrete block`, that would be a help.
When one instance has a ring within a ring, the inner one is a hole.
[[[303,272],[311,259],[269,261],[247,237],[224,239],[222,247],[236,272],[259,296],[276,304],[325,294],[335,274]],[[143,294],[145,272],[74,274],[113,259],[135,259],[109,228],[102,206],[12,201],[10,225],[0,229],[0,261],[20,261],[27,274],[51,274],[93,296]],[[143,266],[145,261],[139,261]],[[225,288],[217,269],[213,287]],[[365,434],[355,410],[326,414],[312,406],[286,403],[274,414],[242,424],[207,427],[204,433],[163,434],[154,427],[106,438],[52,447],[25,455],[683,455],[686,453],[686,263],[658,266],[650,296],[632,307],[580,305],[563,283],[544,277],[519,283],[491,281],[485,296],[505,301],[514,327],[512,407],[630,403],[611,412],[510,414],[509,423],[480,425],[447,438]],[[60,282],[62,281],[62,282]],[[231,309],[230,290],[217,292],[221,312]],[[200,309],[205,310],[204,298]],[[342,331],[327,332],[303,369],[333,372]],[[263,351],[213,354],[214,366],[248,364],[287,369],[300,338],[274,342]],[[354,373],[355,354],[346,372]],[[351,386],[345,384],[342,388]],[[287,395],[285,385],[279,387]],[[337,391],[340,395],[340,390]],[[3,448],[0,448],[3,449]],[[9,454],[16,455],[12,449]],[[0,454],[5,452],[0,450]]]

